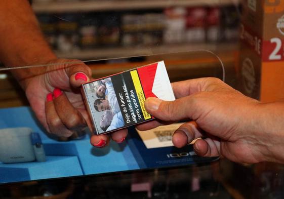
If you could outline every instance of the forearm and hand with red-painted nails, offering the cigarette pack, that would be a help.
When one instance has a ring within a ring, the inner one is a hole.
[[[75,135],[87,125],[80,86],[91,80],[92,71],[82,61],[59,59],[40,31],[29,1],[0,1],[2,28],[0,60],[24,89],[39,122],[60,137]],[[28,67],[28,66],[38,67]],[[40,66],[40,67],[39,67]],[[101,136],[109,142],[109,136]]]

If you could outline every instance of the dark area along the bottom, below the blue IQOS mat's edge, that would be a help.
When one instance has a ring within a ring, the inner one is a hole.
[[[1,198],[282,198],[283,167],[221,159],[191,165],[0,186]]]

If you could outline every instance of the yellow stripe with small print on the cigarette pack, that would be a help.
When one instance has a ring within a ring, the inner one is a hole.
[[[132,77],[132,80],[133,80],[133,84],[134,84],[134,87],[135,87],[135,91],[137,93],[137,97],[138,97],[138,100],[139,100],[139,104],[140,104],[144,119],[148,120],[148,119],[151,118],[151,115],[148,112],[146,112],[146,110],[145,110],[145,106],[144,106],[145,96],[144,96],[144,93],[143,93],[143,90],[142,90],[142,87],[141,87],[141,84],[140,84],[140,79],[139,79],[137,70],[132,70],[130,72],[130,74],[131,74],[131,77]]]

